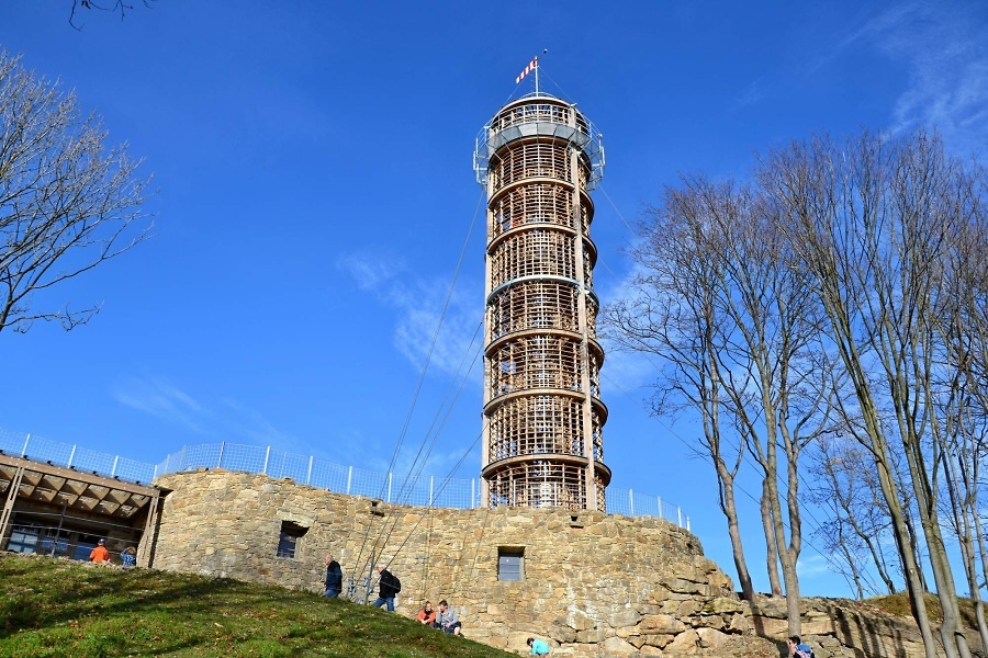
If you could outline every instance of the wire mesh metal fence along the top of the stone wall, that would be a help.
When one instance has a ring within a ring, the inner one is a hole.
[[[187,445],[165,457],[159,464],[145,464],[78,445],[0,429],[0,452],[144,484],[166,473],[225,468],[244,473],[263,473],[274,478],[290,477],[296,483],[321,489],[380,498],[397,504],[472,509],[481,507],[482,503],[480,480],[475,478],[437,478],[367,470],[312,455],[288,453],[271,446],[237,443]],[[689,517],[684,514],[678,506],[658,496],[639,494],[631,489],[608,487],[607,511],[628,517],[658,517],[689,530]]]

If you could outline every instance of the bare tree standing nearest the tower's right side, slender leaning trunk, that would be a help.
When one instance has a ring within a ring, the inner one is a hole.
[[[731,441],[729,424],[721,419],[719,352],[727,345],[716,297],[723,271],[714,256],[723,245],[688,193],[670,190],[665,207],[654,209],[649,219],[642,225],[643,239],[631,251],[638,274],[629,295],[605,308],[603,325],[619,348],[660,358],[656,413],[698,413],[703,427],[698,453],[714,465],[741,593],[754,601],[734,498],[744,447],[739,438]]]

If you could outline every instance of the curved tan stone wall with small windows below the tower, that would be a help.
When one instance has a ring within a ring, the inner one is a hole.
[[[519,654],[536,635],[554,656],[784,655],[785,601],[760,599],[752,609],[693,534],[660,519],[430,510],[225,470],[156,484],[172,491],[155,568],[322,591],[323,555],[332,552],[360,591],[374,561],[390,563],[403,586],[400,614],[448,599],[464,635]],[[283,523],[307,529],[294,558],[276,557]],[[498,580],[504,551],[524,555],[521,580]],[[818,658],[924,655],[911,621],[823,600],[805,602],[804,635]]]

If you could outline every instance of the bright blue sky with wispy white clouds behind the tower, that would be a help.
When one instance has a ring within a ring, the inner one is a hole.
[[[988,148],[980,2],[135,0],[123,21],[82,11],[78,31],[70,4],[7,0],[0,47],[145,158],[156,237],[35,297],[102,302],[90,325],[0,333],[0,428],[138,461],[228,441],[385,469],[465,242],[398,456],[411,462],[483,313],[474,138],[531,90],[515,77],[543,48],[543,89],[604,135],[605,304],[629,272],[627,225],[680,172],[743,175],[754,152],[813,131],[928,125],[958,154]],[[478,372],[426,473],[449,475],[474,444]],[[644,411],[655,374],[608,354],[613,486],[682,506],[732,572],[694,429]],[[453,475],[479,467],[474,447]],[[802,572],[805,593],[846,593],[811,547]]]

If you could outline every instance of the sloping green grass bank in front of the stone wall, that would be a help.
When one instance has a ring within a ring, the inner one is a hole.
[[[512,655],[310,592],[0,554],[2,658]]]

